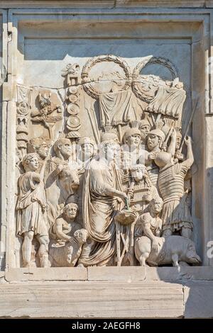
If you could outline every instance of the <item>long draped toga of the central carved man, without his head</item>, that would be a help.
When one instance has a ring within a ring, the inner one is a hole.
[[[105,187],[114,187],[121,191],[121,177],[115,165],[103,166],[93,159],[84,174],[83,222],[89,236],[97,242],[89,258],[80,262],[86,266],[102,266],[114,256],[116,250],[116,232],[114,215],[120,204],[116,198],[105,194]]]

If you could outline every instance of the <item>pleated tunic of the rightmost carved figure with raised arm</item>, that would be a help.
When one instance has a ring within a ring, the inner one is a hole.
[[[188,161],[170,164],[161,169],[158,176],[158,188],[163,198],[163,230],[180,230],[192,227],[192,218],[187,205],[187,193],[184,179],[190,165]]]

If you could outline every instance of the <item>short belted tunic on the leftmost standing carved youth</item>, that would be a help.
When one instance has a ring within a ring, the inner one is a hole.
[[[43,183],[34,179],[35,172],[26,172],[19,177],[20,193],[16,205],[17,235],[33,231],[35,235],[48,235],[43,210],[45,209],[45,194]],[[36,174],[38,177],[38,174]]]

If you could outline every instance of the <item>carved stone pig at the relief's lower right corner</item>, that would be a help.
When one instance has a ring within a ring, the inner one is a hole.
[[[151,266],[173,264],[179,266],[179,261],[188,264],[200,264],[200,256],[195,251],[195,243],[182,236],[170,236],[158,239],[158,250],[151,248],[151,239],[146,236],[138,237],[135,242],[136,258],[141,266],[146,262]]]

